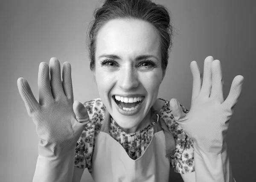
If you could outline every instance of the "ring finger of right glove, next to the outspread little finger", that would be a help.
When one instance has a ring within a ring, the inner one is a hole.
[[[219,60],[212,61],[212,91],[211,98],[216,98],[223,103],[223,76],[221,62]]]

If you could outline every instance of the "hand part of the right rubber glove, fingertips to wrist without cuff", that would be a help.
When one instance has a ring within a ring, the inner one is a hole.
[[[193,75],[192,101],[189,113],[184,113],[176,99],[170,101],[175,121],[204,152],[221,153],[233,107],[240,96],[244,77],[237,75],[224,101],[221,63],[208,56],[204,61],[204,78],[196,61],[190,69]],[[202,83],[203,82],[203,83]]]

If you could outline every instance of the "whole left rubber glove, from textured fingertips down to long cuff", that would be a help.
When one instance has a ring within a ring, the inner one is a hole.
[[[49,78],[49,69],[50,76]],[[17,80],[18,90],[40,138],[34,182],[71,182],[76,142],[89,121],[86,108],[73,102],[71,66],[61,68],[56,58],[42,62],[38,72],[39,103],[28,82]]]

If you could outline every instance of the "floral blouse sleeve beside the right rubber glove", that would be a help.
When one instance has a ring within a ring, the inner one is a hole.
[[[171,165],[177,173],[191,173],[195,171],[194,142],[186,135],[180,125],[174,120],[169,101],[164,101],[165,104],[160,110],[160,115],[168,125],[176,144],[175,153],[171,156],[170,160]],[[186,110],[186,108],[183,106],[182,109],[184,113],[189,112],[189,110]]]

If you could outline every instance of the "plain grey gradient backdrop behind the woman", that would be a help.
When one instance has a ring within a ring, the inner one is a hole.
[[[254,0],[155,0],[172,12],[176,28],[169,68],[159,97],[190,108],[191,61],[201,71],[208,55],[219,59],[224,96],[236,75],[244,88],[234,108],[227,145],[237,182],[256,181],[256,3]],[[102,0],[1,0],[0,2],[0,181],[29,182],[38,156],[35,125],[17,89],[26,78],[38,98],[38,66],[57,57],[72,65],[74,98],[99,97],[89,69],[87,27]],[[87,169],[83,180],[91,182]],[[176,175],[177,176],[177,175]],[[176,177],[174,177],[176,179]],[[175,180],[174,180],[175,181]],[[179,181],[176,179],[176,181]]]

